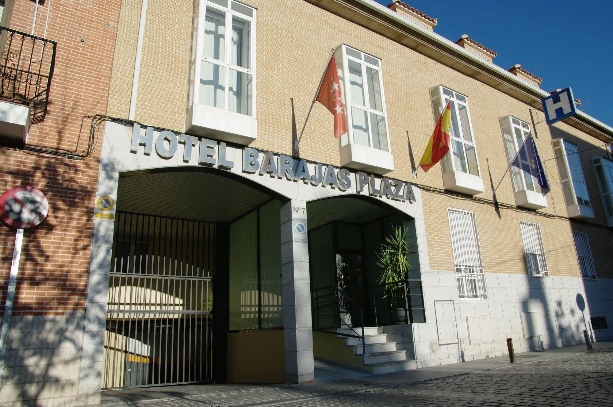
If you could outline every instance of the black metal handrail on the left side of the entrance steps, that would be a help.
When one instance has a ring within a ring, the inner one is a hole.
[[[364,310],[362,310],[362,306],[360,306],[355,300],[349,297],[349,295],[347,295],[341,289],[338,289],[338,287],[334,286],[313,289],[311,294],[311,314],[313,317],[313,329],[318,330],[320,332],[341,335],[343,337],[359,338],[362,342],[362,354],[365,355],[366,343],[364,341]],[[351,303],[351,305],[354,307],[354,311],[359,311],[359,329],[361,329],[361,333],[358,333],[354,329],[354,327],[351,326],[351,322],[347,322],[345,319],[343,319],[343,314],[351,315],[351,309],[348,308],[348,303]],[[321,312],[322,309],[325,309],[326,307],[330,306],[332,307],[332,311],[323,311],[324,313]],[[325,324],[324,326],[322,326],[322,318],[329,317],[333,317],[334,322],[332,326],[327,326]],[[352,335],[351,333],[338,332],[338,329],[344,327],[351,329],[352,332],[355,333],[355,335]]]

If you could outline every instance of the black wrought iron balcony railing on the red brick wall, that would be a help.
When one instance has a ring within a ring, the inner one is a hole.
[[[56,42],[0,27],[0,100],[28,105],[30,124],[47,114]]]

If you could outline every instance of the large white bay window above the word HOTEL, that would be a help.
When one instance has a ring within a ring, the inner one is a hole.
[[[255,13],[232,0],[196,0],[188,132],[249,144],[256,139]]]

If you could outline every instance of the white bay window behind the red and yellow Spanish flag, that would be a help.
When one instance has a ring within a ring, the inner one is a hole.
[[[444,86],[430,89],[434,123],[451,101],[451,146],[441,160],[443,186],[450,191],[476,195],[484,191],[473,127],[468,112],[468,98]]]

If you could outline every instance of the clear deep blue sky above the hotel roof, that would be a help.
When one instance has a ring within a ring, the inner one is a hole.
[[[391,1],[377,0],[387,6]],[[613,1],[406,1],[438,18],[435,32],[462,34],[497,51],[504,69],[522,64],[541,89],[573,88],[582,110],[613,126]]]

